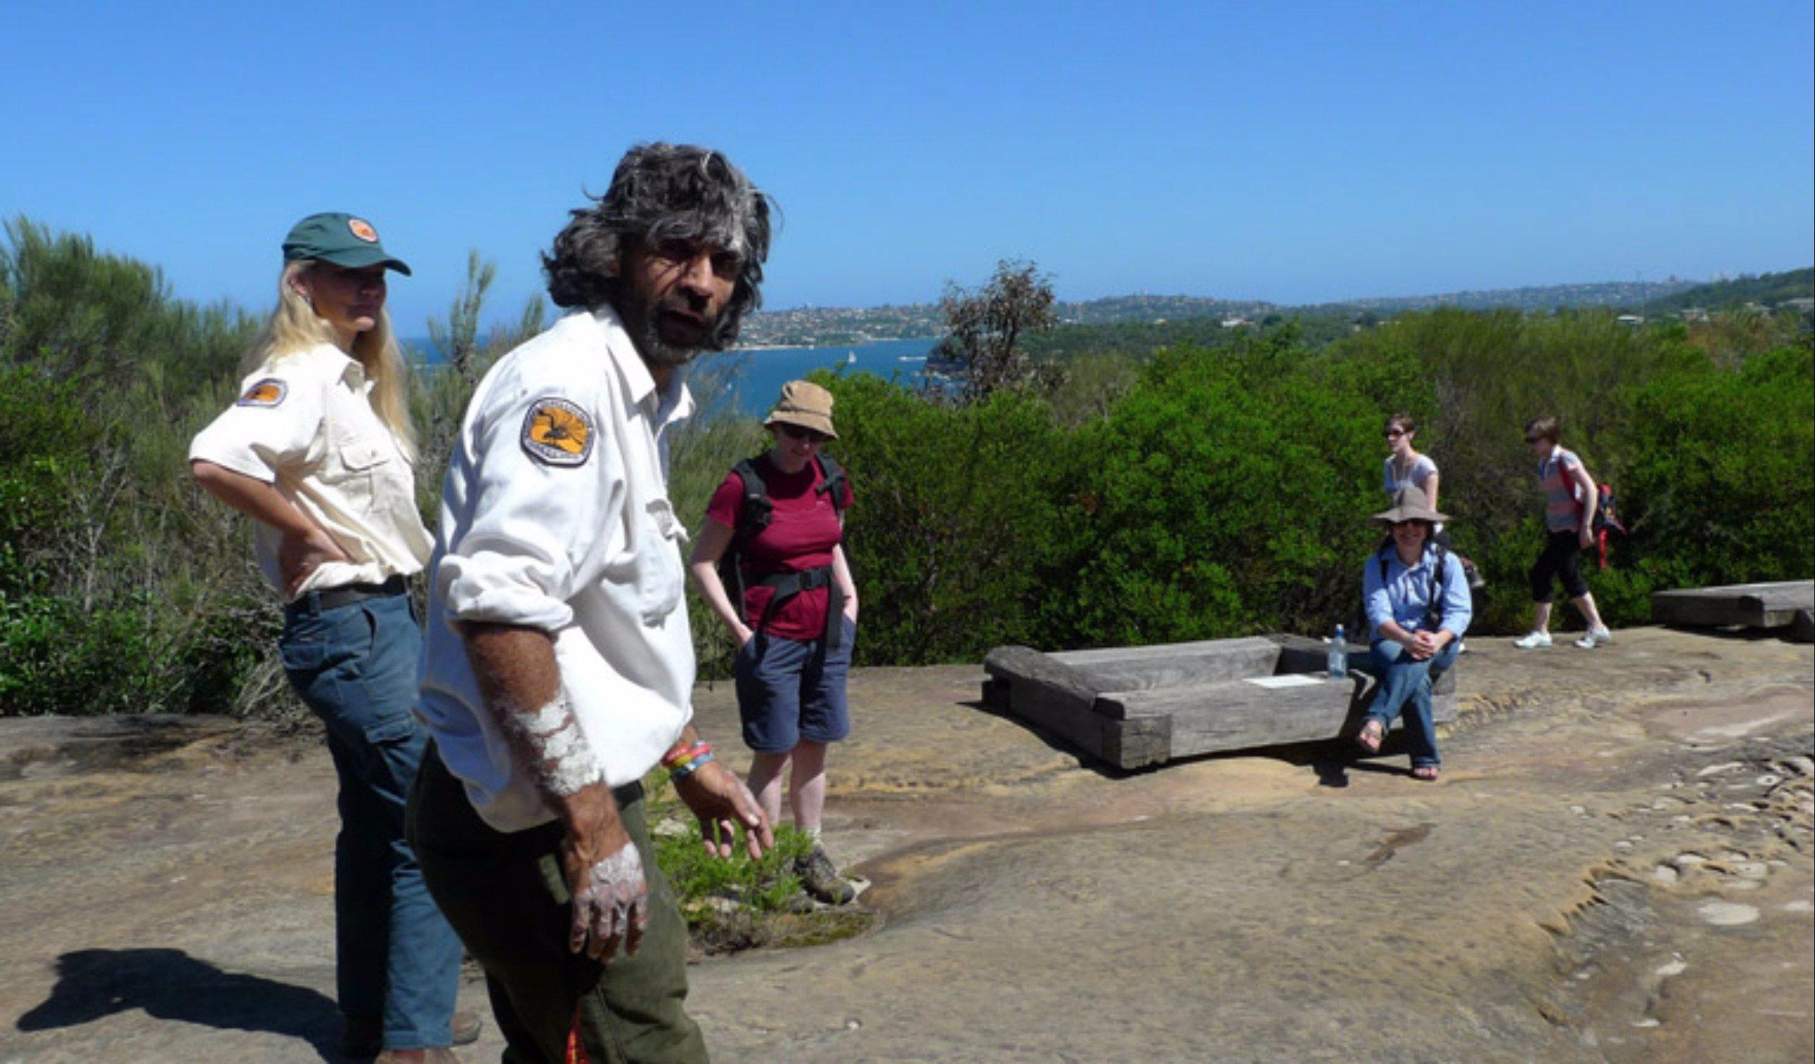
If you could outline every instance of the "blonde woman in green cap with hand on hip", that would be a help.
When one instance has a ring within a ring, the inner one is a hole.
[[[387,271],[410,272],[363,218],[298,222],[240,398],[189,445],[189,467],[254,519],[260,568],[285,599],[285,674],[327,724],[341,1049],[456,1060],[448,1046],[479,1033],[476,1017],[454,1017],[461,944],[403,832],[427,748],[410,712],[421,635],[405,581],[430,539]]]

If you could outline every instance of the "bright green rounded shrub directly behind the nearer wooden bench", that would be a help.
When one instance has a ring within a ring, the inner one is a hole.
[[[1064,645],[1211,639],[1350,616],[1372,499],[1332,456],[1378,432],[1359,396],[1318,389],[1285,345],[1162,352],[1078,434],[1042,612]]]

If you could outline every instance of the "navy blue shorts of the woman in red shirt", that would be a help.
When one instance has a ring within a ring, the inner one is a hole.
[[[784,639],[757,632],[737,652],[737,714],[744,746],[786,754],[802,741],[837,743],[851,734],[844,681],[851,674],[857,623],[846,616],[837,650],[826,639]]]

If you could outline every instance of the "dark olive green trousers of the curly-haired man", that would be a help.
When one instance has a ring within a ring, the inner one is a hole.
[[[643,855],[650,919],[633,957],[608,964],[568,951],[572,899],[561,872],[561,824],[495,832],[428,750],[410,793],[408,839],[428,893],[485,968],[505,1064],[566,1064],[579,1019],[590,1064],[704,1064],[688,1019],[686,922],[655,866],[643,786],[615,792],[624,830]]]

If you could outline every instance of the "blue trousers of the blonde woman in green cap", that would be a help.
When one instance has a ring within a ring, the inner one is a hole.
[[[407,594],[283,612],[278,650],[329,730],[339,775],[334,973],[341,1015],[383,1019],[387,1049],[452,1042],[461,944],[403,835],[428,734],[412,715],[421,634]]]

